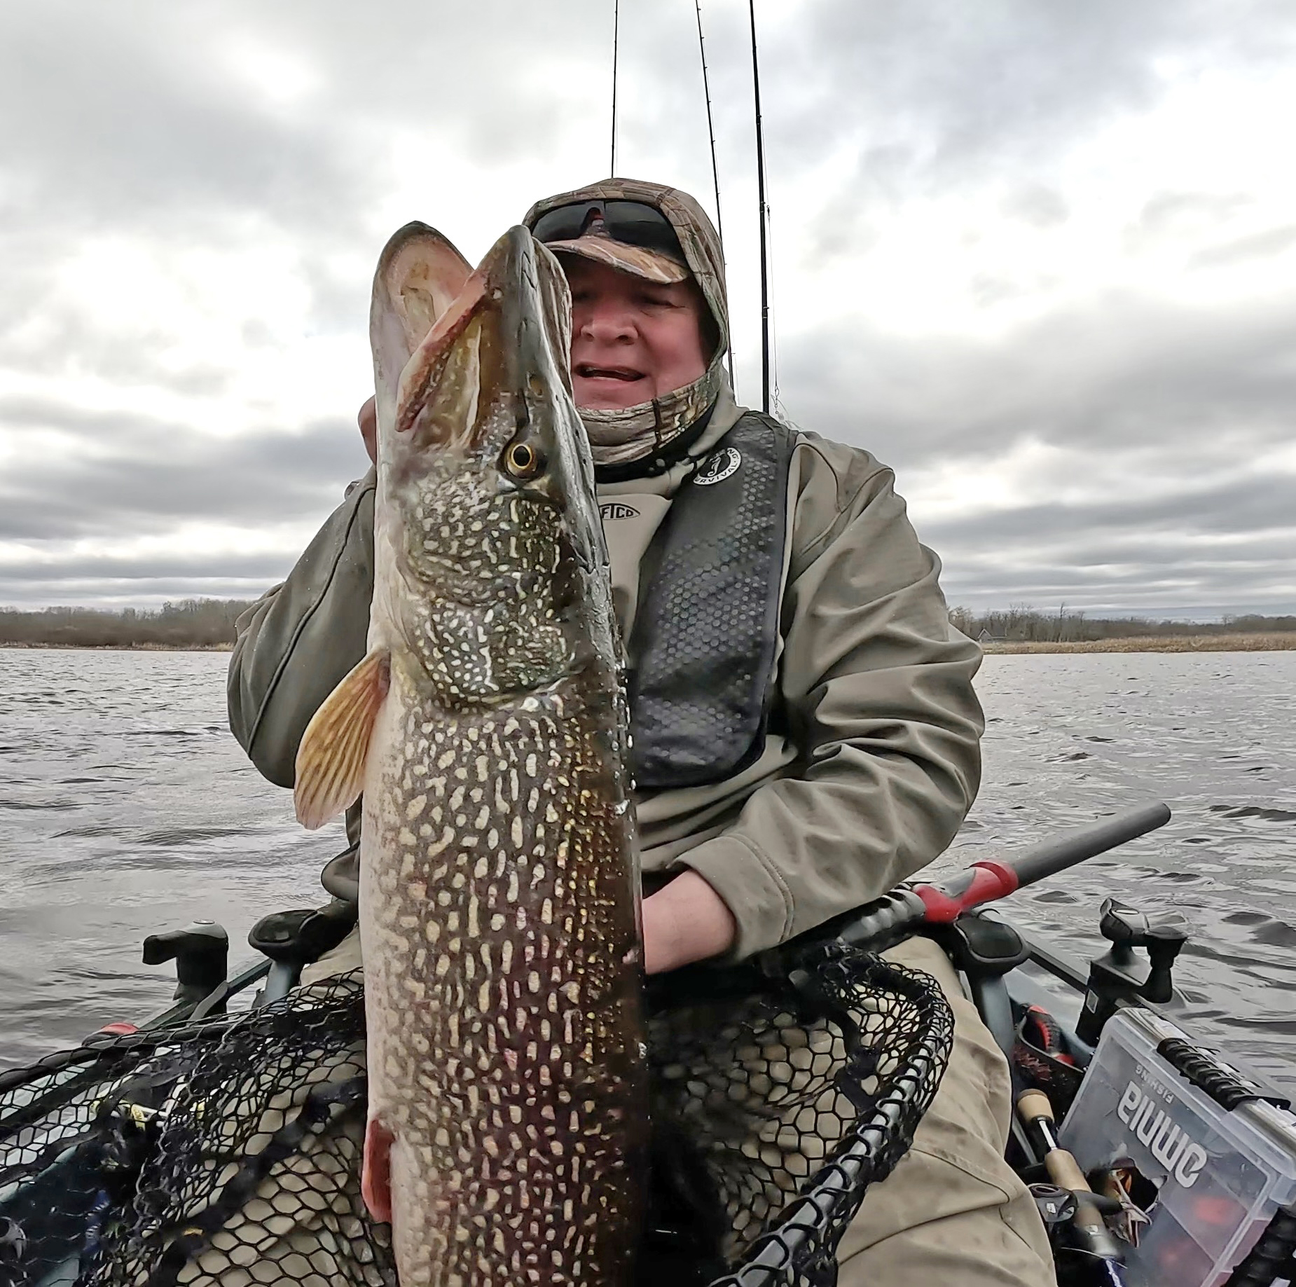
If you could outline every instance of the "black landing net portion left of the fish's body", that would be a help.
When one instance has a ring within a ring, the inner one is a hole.
[[[394,1283],[360,1199],[363,1045],[340,977],[6,1074],[0,1209],[23,1246],[0,1283]]]

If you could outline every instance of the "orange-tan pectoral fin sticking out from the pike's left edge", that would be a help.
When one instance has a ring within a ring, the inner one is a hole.
[[[390,675],[386,649],[376,648],[328,695],[306,726],[293,788],[297,820],[303,827],[321,827],[364,789],[369,735]]]

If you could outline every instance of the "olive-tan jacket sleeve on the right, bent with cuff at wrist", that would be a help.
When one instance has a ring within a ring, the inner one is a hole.
[[[980,648],[940,562],[866,452],[807,447],[783,596],[779,696],[797,759],[679,855],[737,922],[731,959],[885,893],[954,839],[980,784]],[[776,708],[778,712],[778,708]]]

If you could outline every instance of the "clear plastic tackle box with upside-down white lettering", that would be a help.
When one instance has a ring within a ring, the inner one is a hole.
[[[1156,1186],[1126,1247],[1130,1287],[1218,1287],[1296,1199],[1283,1103],[1151,1010],[1108,1020],[1060,1143],[1085,1172],[1133,1165]]]

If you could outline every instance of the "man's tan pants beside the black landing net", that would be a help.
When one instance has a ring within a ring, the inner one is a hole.
[[[940,982],[954,1008],[954,1050],[912,1147],[841,1239],[839,1287],[1055,1287],[1043,1222],[1003,1160],[1007,1060],[940,947],[911,938],[886,957]],[[302,981],[359,964],[353,933]]]

